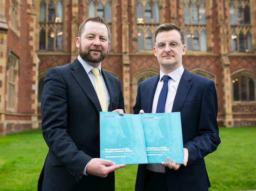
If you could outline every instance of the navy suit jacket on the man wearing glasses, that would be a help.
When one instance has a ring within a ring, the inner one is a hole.
[[[159,75],[138,85],[134,113],[140,109],[151,113]],[[210,187],[204,156],[220,144],[217,112],[218,102],[214,82],[192,74],[186,69],[182,74],[172,112],[180,112],[184,148],[188,149],[187,166],[175,171],[165,168],[169,191],[206,191]],[[146,165],[138,165],[136,191],[143,191]],[[161,190],[161,188],[159,188]]]

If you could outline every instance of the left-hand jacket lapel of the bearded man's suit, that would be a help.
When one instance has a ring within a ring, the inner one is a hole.
[[[86,71],[84,70],[82,64],[78,61],[78,59],[75,59],[74,62],[71,64],[71,73],[84,91],[84,93],[92,101],[98,112],[102,111],[96,91],[90,81],[90,78],[88,77]]]

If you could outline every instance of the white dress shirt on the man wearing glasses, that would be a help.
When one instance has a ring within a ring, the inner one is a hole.
[[[168,81],[168,94],[167,94],[165,108],[164,108],[165,113],[172,112],[174,98],[175,98],[175,95],[176,95],[176,92],[178,89],[178,85],[180,83],[180,79],[181,79],[183,72],[184,72],[184,67],[181,65],[178,69],[167,74],[171,78]],[[165,74],[160,70],[160,79],[158,81],[155,95],[154,95],[154,100],[153,100],[153,104],[152,104],[152,113],[156,113],[158,98],[159,98],[160,92],[162,90],[162,87],[164,85],[164,81],[162,80],[162,77],[164,75]],[[154,172],[165,173],[165,166],[162,164],[148,164],[146,169],[148,169],[150,171],[154,171]]]

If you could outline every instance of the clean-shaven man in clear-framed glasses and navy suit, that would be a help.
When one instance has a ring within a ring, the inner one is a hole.
[[[170,161],[138,165],[136,191],[207,191],[210,181],[204,156],[220,144],[214,82],[182,66],[186,52],[182,28],[162,24],[155,30],[154,54],[160,74],[141,82],[134,113],[180,112],[183,164]]]

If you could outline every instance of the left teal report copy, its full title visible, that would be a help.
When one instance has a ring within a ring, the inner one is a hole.
[[[148,163],[140,115],[100,112],[100,158],[116,164]]]

